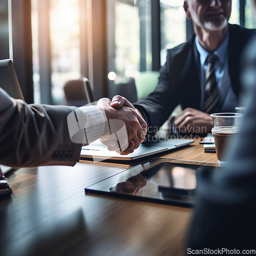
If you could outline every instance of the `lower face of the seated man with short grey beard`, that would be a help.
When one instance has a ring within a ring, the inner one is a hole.
[[[188,18],[207,30],[222,30],[231,14],[231,0],[186,0],[184,8]]]

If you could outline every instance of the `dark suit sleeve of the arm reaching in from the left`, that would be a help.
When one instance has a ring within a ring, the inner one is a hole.
[[[0,163],[12,167],[74,165],[81,144],[69,136],[73,106],[28,105],[0,88]]]

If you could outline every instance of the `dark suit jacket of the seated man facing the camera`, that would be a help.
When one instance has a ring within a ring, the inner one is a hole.
[[[255,30],[230,24],[228,29],[229,75],[232,89],[239,96],[241,91],[239,59],[246,41]],[[200,110],[199,67],[200,56],[195,44],[195,35],[184,44],[167,51],[166,62],[160,70],[156,90],[134,104],[135,108],[145,115],[148,126],[160,127],[178,104],[181,104],[182,109]]]

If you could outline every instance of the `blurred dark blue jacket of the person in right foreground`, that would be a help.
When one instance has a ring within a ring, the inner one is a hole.
[[[256,37],[245,56],[247,105],[241,131],[228,147],[226,167],[198,175],[187,248],[236,248],[241,254],[243,249],[256,249]]]

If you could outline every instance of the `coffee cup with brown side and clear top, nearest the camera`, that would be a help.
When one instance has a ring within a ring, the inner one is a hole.
[[[219,166],[223,166],[226,162],[225,152],[229,141],[234,134],[240,131],[243,114],[240,113],[216,113],[210,114],[214,127],[211,129],[214,135],[215,148]]]

